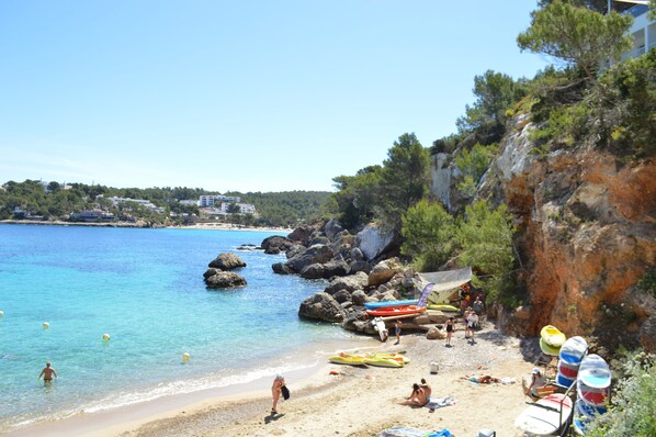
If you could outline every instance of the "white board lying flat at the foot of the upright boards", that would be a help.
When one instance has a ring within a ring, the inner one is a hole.
[[[552,436],[563,428],[570,414],[572,400],[554,393],[524,410],[514,426],[531,436]]]

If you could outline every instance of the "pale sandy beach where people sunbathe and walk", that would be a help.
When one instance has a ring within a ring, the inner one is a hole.
[[[459,326],[454,347],[443,340],[427,340],[408,334],[400,345],[372,341],[381,351],[406,351],[411,362],[400,369],[357,368],[317,362],[285,374],[292,397],[279,405],[271,417],[270,378],[224,390],[172,395],[147,404],[110,412],[83,414],[63,421],[26,427],[7,434],[23,436],[270,436],[336,434],[352,437],[377,435],[392,426],[426,430],[448,428],[457,436],[475,435],[489,428],[497,435],[513,436],[513,422],[525,408],[521,377],[533,366],[521,350],[520,340],[488,326],[477,333],[477,343],[463,338]],[[353,349],[344,339],[341,350]],[[298,351],[299,354],[301,351]],[[438,374],[430,374],[439,362]],[[338,374],[329,374],[330,371]],[[467,374],[510,377],[513,384],[474,384]],[[453,396],[455,405],[430,412],[426,407],[398,405],[412,382],[426,378],[433,396]]]

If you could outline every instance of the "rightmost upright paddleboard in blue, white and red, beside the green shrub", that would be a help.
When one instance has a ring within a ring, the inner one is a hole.
[[[606,360],[596,354],[586,356],[578,369],[577,401],[574,430],[585,436],[586,425],[592,416],[606,413],[606,400],[610,394],[611,373]]]

